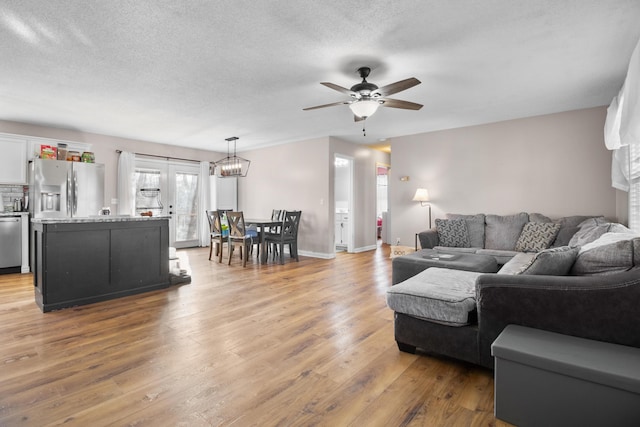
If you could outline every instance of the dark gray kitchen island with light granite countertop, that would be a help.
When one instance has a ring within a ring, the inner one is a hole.
[[[169,217],[32,219],[43,312],[169,287]]]

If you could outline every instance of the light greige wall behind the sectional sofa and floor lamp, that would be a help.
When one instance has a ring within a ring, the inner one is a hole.
[[[427,208],[411,201],[418,187],[429,190],[434,220],[448,212],[622,217],[605,115],[598,107],[392,139],[392,241],[412,246],[428,227]]]

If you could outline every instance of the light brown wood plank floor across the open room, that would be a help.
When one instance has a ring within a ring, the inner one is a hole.
[[[398,351],[388,246],[179,255],[191,284],[46,314],[30,274],[0,276],[0,425],[508,425],[492,372]]]

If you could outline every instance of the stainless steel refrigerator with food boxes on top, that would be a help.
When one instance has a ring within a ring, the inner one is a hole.
[[[29,164],[29,212],[33,218],[98,215],[104,204],[104,165],[35,159]]]

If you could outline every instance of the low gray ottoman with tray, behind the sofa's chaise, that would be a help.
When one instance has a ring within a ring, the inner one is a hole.
[[[422,249],[409,255],[396,257],[392,261],[392,283],[403,282],[430,267],[452,270],[495,273],[496,259],[489,255],[447,254],[433,249]]]

